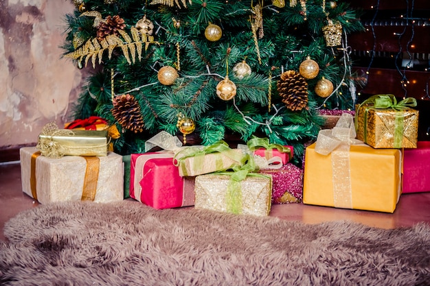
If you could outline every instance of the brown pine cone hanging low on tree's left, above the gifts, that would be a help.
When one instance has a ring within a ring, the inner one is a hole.
[[[111,112],[123,128],[135,133],[144,131],[142,111],[140,110],[139,102],[133,95],[126,94],[115,97]]]

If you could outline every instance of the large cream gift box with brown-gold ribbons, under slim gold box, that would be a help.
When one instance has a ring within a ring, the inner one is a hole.
[[[39,154],[36,147],[20,150],[23,192],[41,204],[123,200],[122,156],[109,152],[101,157],[47,158]]]

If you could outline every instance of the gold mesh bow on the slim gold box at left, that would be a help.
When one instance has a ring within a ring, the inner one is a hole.
[[[49,158],[61,158],[66,153],[66,148],[60,143],[52,140],[53,136],[73,136],[74,132],[67,129],[58,129],[56,123],[47,123],[42,129],[41,135],[45,135],[44,138],[39,136],[37,149],[41,151],[43,156]]]

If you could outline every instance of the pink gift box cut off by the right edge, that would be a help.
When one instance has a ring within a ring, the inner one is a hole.
[[[430,141],[418,141],[416,149],[405,149],[403,193],[430,191]]]

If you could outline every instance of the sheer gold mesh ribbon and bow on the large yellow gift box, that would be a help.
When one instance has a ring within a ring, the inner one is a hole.
[[[350,145],[363,143],[356,137],[354,117],[343,113],[332,130],[319,131],[315,152],[332,156],[333,200],[337,208],[352,208]]]

